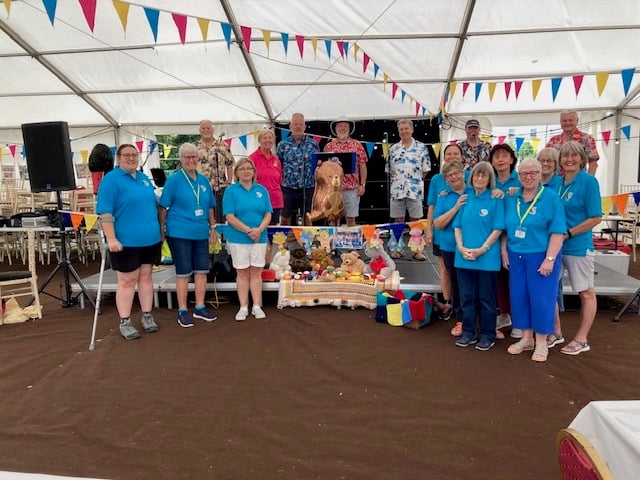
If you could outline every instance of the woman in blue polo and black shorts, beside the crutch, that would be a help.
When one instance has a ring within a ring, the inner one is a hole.
[[[153,307],[152,267],[160,263],[160,224],[153,184],[138,170],[138,149],[118,147],[118,166],[105,175],[98,190],[96,212],[109,247],[111,268],[117,272],[116,307],[120,334],[126,340],[140,338],[131,323],[131,307],[138,287],[142,328],[157,332]]]

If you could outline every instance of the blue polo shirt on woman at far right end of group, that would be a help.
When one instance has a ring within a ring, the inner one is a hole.
[[[564,181],[558,187],[558,195],[564,206],[567,229],[573,228],[587,218],[602,216],[602,201],[598,180],[584,170],[569,183]],[[588,250],[593,250],[591,230],[567,238],[562,246],[563,255],[584,257]]]

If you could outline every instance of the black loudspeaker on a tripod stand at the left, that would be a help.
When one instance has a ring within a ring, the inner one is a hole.
[[[32,192],[75,190],[67,122],[25,123],[22,138]]]

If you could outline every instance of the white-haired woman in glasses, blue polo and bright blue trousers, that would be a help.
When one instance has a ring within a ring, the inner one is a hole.
[[[558,194],[540,183],[542,167],[533,158],[518,169],[522,188],[505,200],[506,235],[503,266],[510,271],[513,326],[522,338],[507,349],[512,355],[534,350],[536,362],[547,360],[547,335],[553,333],[560,249],[566,232]],[[534,339],[535,333],[535,339]]]

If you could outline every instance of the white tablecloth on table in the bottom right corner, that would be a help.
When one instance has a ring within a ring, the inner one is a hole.
[[[640,478],[640,400],[591,402],[569,427],[589,439],[613,478]]]

